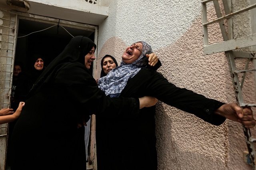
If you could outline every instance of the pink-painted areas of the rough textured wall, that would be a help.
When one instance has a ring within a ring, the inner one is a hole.
[[[213,13],[213,6],[208,10]],[[209,20],[214,17],[216,16],[210,16]],[[200,16],[194,19],[192,25],[177,41],[153,49],[162,61],[162,67],[158,71],[178,87],[225,103],[236,102],[225,54],[204,56],[202,35]],[[209,36],[210,43],[222,41],[218,24],[209,28]],[[98,62],[104,55],[110,54],[120,63],[121,55],[128,45],[122,38],[112,36],[100,49]],[[244,64],[241,62],[238,67],[244,67]],[[99,73],[100,67],[97,69],[98,77]],[[255,102],[252,81],[253,75],[249,74],[246,79],[248,83],[244,85],[246,100],[251,103]],[[252,129],[253,133],[254,131]],[[216,127],[194,115],[158,102],[156,136],[159,170],[252,169],[243,161],[243,151],[247,148],[239,123],[227,120],[223,125]]]

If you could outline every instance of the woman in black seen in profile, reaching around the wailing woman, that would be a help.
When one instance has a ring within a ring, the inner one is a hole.
[[[13,135],[12,170],[86,169],[84,127],[92,113],[128,117],[148,107],[148,98],[110,98],[91,76],[96,45],[77,36],[44,70],[28,93]],[[152,99],[152,98],[151,98]],[[153,101],[153,100],[152,100]],[[122,114],[121,114],[122,113]]]

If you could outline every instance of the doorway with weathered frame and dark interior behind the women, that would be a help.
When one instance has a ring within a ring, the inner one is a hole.
[[[41,54],[44,56],[44,62],[47,66],[63,51],[74,36],[86,36],[97,44],[98,28],[96,26],[43,16],[34,16],[33,18],[30,18],[24,15],[26,14],[18,14],[16,48],[14,55],[14,63],[22,63],[24,68],[22,71],[30,71],[32,68],[31,60],[34,54]],[[97,51],[95,51],[95,54],[97,54]],[[12,63],[12,68],[14,63]],[[96,62],[94,62],[90,68],[91,73],[94,73],[95,69]],[[10,83],[10,87],[11,86],[12,83]],[[91,121],[94,122],[93,119]],[[91,129],[90,124],[87,128]],[[87,129],[87,134],[85,134],[85,143],[89,145],[93,144],[93,142],[89,141],[90,129]],[[93,127],[92,130],[94,130]],[[10,135],[11,131],[9,124],[8,138]],[[90,146],[87,146],[87,148],[87,153],[90,153]],[[8,154],[7,146],[6,169],[8,169]],[[90,154],[88,155],[90,156]]]

